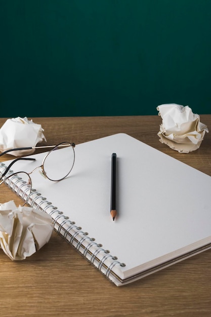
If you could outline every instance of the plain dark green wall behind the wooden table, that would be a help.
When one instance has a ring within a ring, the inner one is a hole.
[[[211,113],[210,0],[0,0],[1,117]]]

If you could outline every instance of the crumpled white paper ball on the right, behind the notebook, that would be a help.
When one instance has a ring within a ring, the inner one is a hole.
[[[199,148],[208,129],[200,122],[198,114],[194,114],[189,106],[175,103],[159,105],[157,110],[162,117],[157,134],[161,143],[181,153]]]

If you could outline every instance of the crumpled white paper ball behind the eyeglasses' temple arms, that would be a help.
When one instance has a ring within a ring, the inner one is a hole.
[[[8,149],[19,147],[34,147],[38,142],[46,138],[43,134],[44,129],[41,125],[33,123],[27,117],[8,119],[0,129],[0,151],[4,152]],[[31,150],[12,151],[8,154],[19,156],[29,155],[34,152]]]

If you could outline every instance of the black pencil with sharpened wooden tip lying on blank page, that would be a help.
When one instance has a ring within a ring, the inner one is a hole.
[[[113,221],[117,215],[116,211],[116,153],[111,155],[111,217]]]

